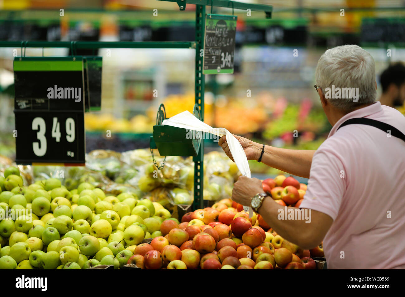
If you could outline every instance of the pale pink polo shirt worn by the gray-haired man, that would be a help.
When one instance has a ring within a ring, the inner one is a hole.
[[[332,217],[323,244],[331,269],[405,269],[405,142],[350,118],[385,122],[405,134],[405,117],[376,102],[350,112],[313,155],[300,208]]]

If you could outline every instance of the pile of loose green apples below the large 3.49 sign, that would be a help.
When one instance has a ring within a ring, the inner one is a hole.
[[[17,167],[0,177],[0,269],[122,268],[143,240],[162,236],[171,213],[92,183],[68,190],[56,178],[23,185]]]

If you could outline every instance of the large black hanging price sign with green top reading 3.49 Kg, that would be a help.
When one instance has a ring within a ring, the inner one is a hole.
[[[16,57],[17,164],[84,165],[84,76],[81,57]]]

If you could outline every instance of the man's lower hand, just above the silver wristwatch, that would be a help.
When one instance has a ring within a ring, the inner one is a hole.
[[[256,194],[263,192],[260,179],[249,178],[242,175],[233,186],[232,200],[239,204],[250,206],[252,198]]]

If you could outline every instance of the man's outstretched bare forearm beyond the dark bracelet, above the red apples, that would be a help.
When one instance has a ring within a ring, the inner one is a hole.
[[[260,153],[259,150],[258,156]],[[266,145],[261,162],[292,175],[309,178],[314,153],[315,151],[288,150]]]

